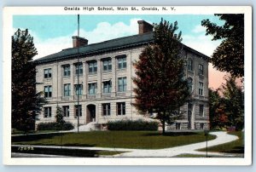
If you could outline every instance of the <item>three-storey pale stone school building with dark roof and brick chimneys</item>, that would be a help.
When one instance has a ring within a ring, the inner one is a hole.
[[[104,125],[110,120],[145,119],[132,103],[136,85],[133,62],[148,43],[154,43],[153,26],[138,21],[139,32],[102,43],[88,44],[73,37],[73,48],[37,60],[38,91],[44,91],[48,103],[38,123],[55,121],[56,106],[61,106],[66,121],[84,125]],[[78,63],[79,55],[79,63]],[[183,45],[187,60],[185,74],[189,79],[193,101],[185,104],[183,119],[168,129],[208,129],[208,57]],[[79,95],[79,106],[78,105]]]

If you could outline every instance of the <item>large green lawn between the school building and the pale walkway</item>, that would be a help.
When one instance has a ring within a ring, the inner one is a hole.
[[[208,139],[214,139],[209,135]],[[177,132],[161,135],[157,131],[91,131],[12,137],[12,144],[51,146],[99,146],[160,149],[205,141],[204,132]]]

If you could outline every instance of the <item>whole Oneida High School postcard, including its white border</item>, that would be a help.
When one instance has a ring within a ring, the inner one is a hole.
[[[3,14],[4,164],[252,163],[252,7]]]

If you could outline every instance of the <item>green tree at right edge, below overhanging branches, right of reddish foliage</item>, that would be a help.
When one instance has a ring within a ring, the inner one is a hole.
[[[223,94],[229,124],[241,130],[244,128],[244,93],[242,88],[236,84],[236,77],[224,79],[226,83],[223,84]]]

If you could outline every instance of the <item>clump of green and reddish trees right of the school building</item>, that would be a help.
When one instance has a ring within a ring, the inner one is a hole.
[[[225,77],[222,89],[209,89],[209,112],[211,129],[224,129],[235,126],[244,128],[244,96],[236,77]],[[223,96],[218,94],[222,91]]]

